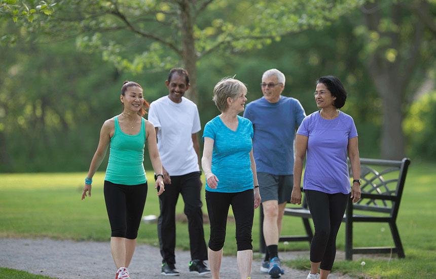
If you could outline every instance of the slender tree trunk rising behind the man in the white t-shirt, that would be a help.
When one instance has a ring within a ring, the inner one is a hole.
[[[180,6],[180,31],[183,44],[183,63],[189,72],[190,90],[187,98],[197,103],[197,54],[195,51],[194,25],[192,21],[192,8],[188,0],[179,2]]]

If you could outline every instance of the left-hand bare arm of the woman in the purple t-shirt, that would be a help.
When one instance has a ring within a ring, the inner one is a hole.
[[[297,134],[295,137],[294,188],[290,197],[290,202],[293,204],[301,204],[301,175],[308,141],[309,137],[303,135]]]

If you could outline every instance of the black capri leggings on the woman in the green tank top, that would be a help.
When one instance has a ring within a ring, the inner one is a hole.
[[[134,240],[138,236],[147,198],[147,182],[138,185],[115,184],[104,180],[104,201],[113,237]]]

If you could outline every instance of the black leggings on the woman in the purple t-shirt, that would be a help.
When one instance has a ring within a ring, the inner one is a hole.
[[[320,268],[323,270],[332,270],[336,256],[336,235],[350,194],[328,194],[314,190],[304,192],[315,225],[315,234],[310,244],[310,261],[321,262]]]

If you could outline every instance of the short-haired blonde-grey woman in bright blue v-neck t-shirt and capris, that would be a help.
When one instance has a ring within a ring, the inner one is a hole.
[[[206,176],[206,205],[210,221],[208,249],[212,278],[220,277],[230,205],[236,223],[239,275],[250,276],[253,251],[251,228],[261,203],[253,157],[251,122],[238,115],[247,101],[247,88],[233,78],[215,85],[213,101],[221,114],[204,127],[201,165]],[[254,188],[254,190],[253,190]]]

